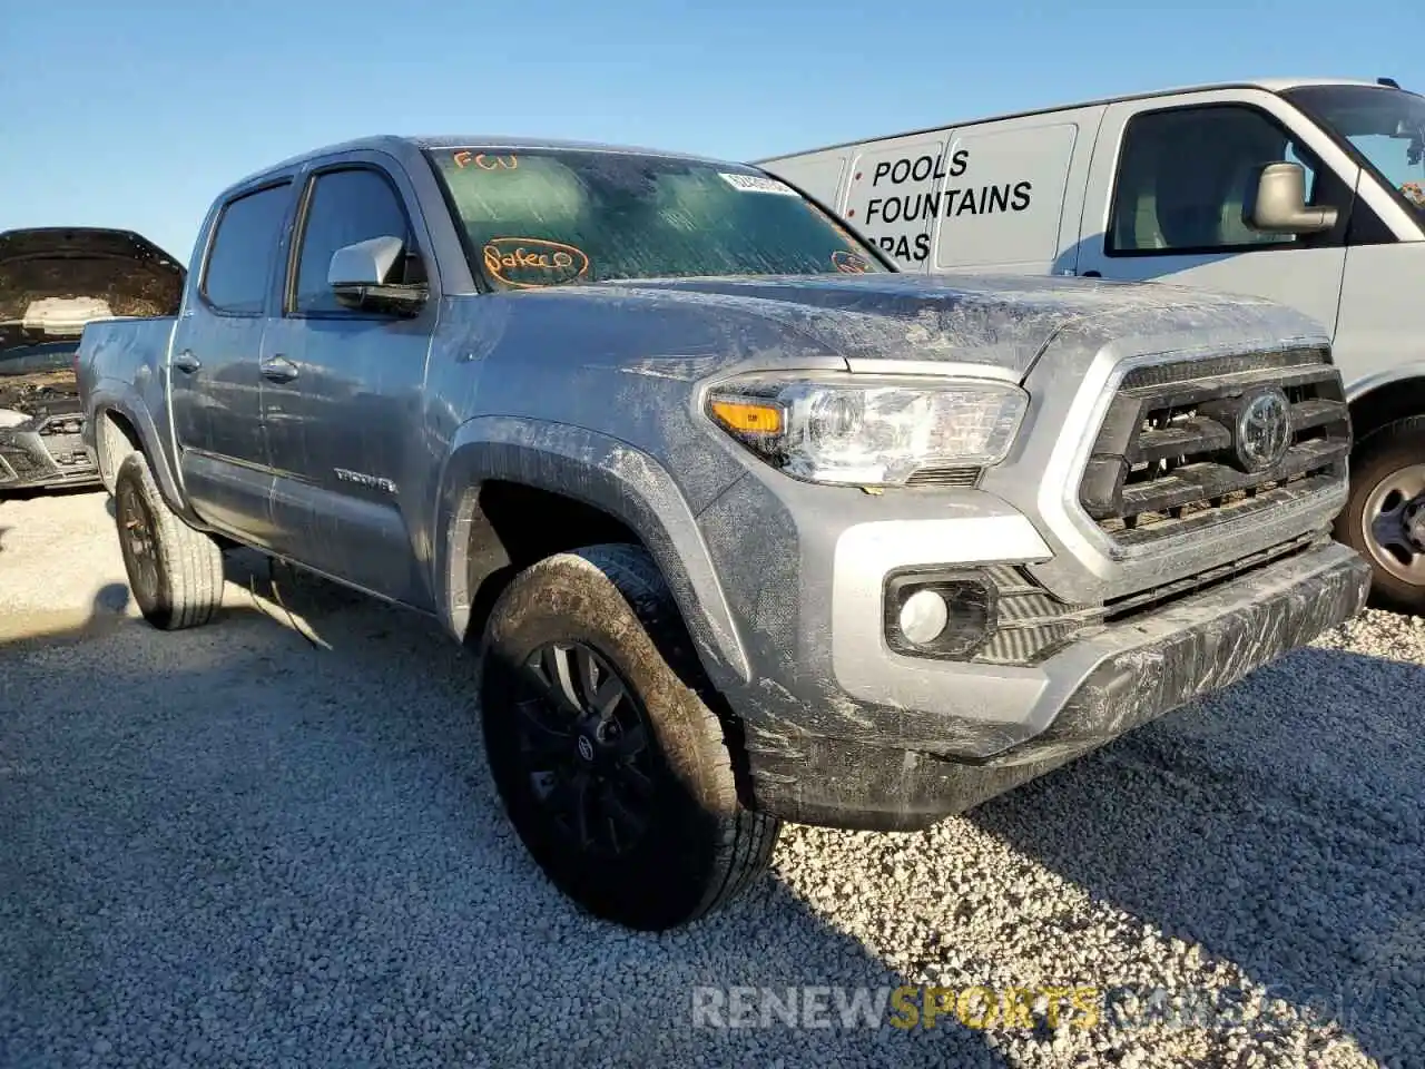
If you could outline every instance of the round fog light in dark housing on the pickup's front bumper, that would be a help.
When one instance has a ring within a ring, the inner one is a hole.
[[[979,570],[906,569],[886,576],[886,646],[909,657],[968,660],[995,633],[999,597]]]

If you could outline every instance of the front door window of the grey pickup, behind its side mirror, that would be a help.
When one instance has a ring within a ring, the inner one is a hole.
[[[406,262],[398,268],[400,277],[388,278],[388,282],[423,281],[400,195],[386,177],[370,168],[319,174],[302,225],[292,309],[299,314],[348,312],[328,288],[326,271],[336,249],[370,238],[406,242]]]

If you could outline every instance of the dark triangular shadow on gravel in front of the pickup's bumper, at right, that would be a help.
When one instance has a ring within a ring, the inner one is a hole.
[[[1368,1055],[1425,1065],[1422,723],[1425,668],[1308,647],[968,820]]]

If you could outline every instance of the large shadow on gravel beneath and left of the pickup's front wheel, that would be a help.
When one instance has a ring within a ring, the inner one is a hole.
[[[905,981],[775,878],[661,936],[576,914],[500,812],[469,656],[241,553],[228,577],[208,627],[107,592],[0,643],[0,1063],[1006,1063],[834,998],[831,1029],[694,1028],[700,986]]]

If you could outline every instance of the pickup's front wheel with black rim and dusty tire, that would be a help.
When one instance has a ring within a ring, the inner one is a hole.
[[[735,898],[779,832],[738,801],[722,724],[650,556],[559,553],[500,594],[480,696],[496,788],[551,882],[594,916],[663,931]]]

